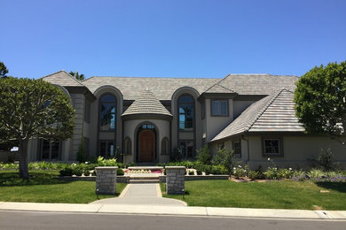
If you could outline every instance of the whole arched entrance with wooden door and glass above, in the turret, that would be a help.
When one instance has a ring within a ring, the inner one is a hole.
[[[150,123],[138,127],[138,163],[151,163],[156,160],[156,128]]]

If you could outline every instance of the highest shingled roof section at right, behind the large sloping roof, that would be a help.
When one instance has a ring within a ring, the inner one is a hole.
[[[218,84],[229,88],[239,95],[271,95],[280,88],[295,91],[296,76],[279,76],[263,73],[227,75]]]

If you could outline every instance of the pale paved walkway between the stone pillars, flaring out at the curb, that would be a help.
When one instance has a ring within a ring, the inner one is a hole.
[[[126,205],[153,205],[153,206],[187,206],[185,202],[163,198],[160,184],[128,184],[122,194],[116,198],[95,201],[90,204],[126,204]]]

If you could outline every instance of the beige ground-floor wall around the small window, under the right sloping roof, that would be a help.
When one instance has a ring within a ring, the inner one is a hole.
[[[262,155],[262,137],[249,136],[250,160],[249,168],[255,170],[259,165],[270,165],[268,157]],[[283,157],[271,157],[278,166],[285,167],[311,167],[311,160],[317,159],[321,149],[331,149],[334,161],[346,167],[346,146],[326,136],[293,136],[284,135]]]

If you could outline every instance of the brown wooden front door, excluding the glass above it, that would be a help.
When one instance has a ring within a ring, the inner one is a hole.
[[[143,130],[139,134],[139,161],[153,162],[155,134],[152,130]]]

